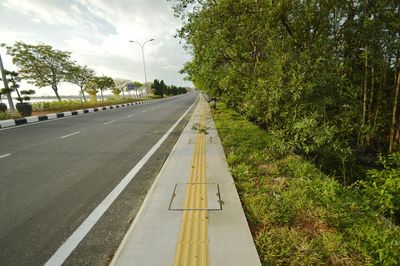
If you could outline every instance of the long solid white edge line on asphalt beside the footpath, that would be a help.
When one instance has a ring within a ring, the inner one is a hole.
[[[107,197],[92,211],[85,221],[68,237],[68,239],[58,248],[56,253],[46,262],[45,266],[62,265],[64,261],[71,255],[72,251],[78,246],[82,239],[92,229],[92,227],[101,218],[104,212],[111,206],[114,200],[121,194],[125,187],[136,176],[143,165],[150,159],[150,157],[157,151],[163,144],[175,127],[182,121],[189,110],[195,105],[194,102],[186,112],[175,122],[175,124],[162,136],[162,138],[146,153],[145,156],[132,168],[132,170],[119,182],[119,184],[107,195]]]

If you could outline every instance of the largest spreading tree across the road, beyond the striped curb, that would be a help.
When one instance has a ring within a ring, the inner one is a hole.
[[[61,101],[58,84],[66,80],[68,68],[72,64],[69,52],[56,50],[45,44],[16,42],[7,47],[7,53],[13,57],[21,78],[39,88],[51,86],[57,99]]]

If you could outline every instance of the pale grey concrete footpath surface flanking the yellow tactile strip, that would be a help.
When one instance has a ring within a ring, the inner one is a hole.
[[[210,191],[219,191],[219,197],[209,193],[208,201],[221,206],[208,211],[208,265],[261,265],[207,104],[197,105],[110,265],[173,265],[182,211],[169,208],[177,184],[188,182],[197,134],[192,127],[200,121],[201,106],[208,128],[206,182]]]

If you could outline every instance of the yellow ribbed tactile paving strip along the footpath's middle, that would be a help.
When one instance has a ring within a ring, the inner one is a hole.
[[[205,126],[204,104],[204,99],[202,99],[200,101],[200,128]],[[203,130],[198,130],[196,135],[188,183],[174,266],[208,265],[206,138]]]

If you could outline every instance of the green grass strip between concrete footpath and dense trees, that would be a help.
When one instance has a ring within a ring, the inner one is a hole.
[[[398,265],[400,230],[223,103],[218,133],[263,265]]]

